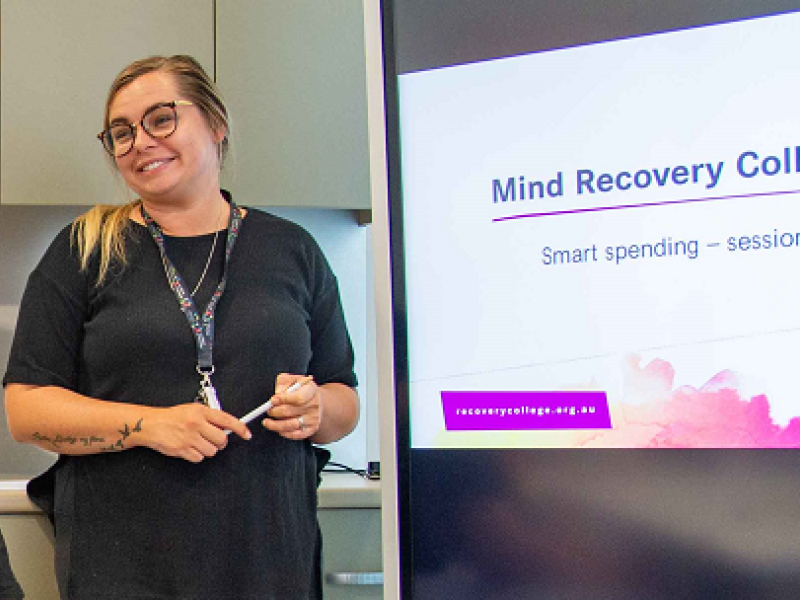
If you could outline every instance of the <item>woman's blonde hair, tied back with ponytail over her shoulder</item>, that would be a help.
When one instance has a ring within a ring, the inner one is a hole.
[[[109,124],[109,111],[116,95],[125,86],[142,75],[154,72],[169,73],[174,77],[180,95],[190,100],[202,113],[209,128],[224,132],[217,145],[219,166],[228,153],[230,118],[217,86],[194,58],[183,54],[175,56],[151,56],[137,60],[125,67],[111,84],[106,97],[103,129]],[[116,162],[112,159],[114,168]],[[84,213],[72,224],[72,241],[78,248],[81,269],[86,270],[95,252],[99,252],[97,285],[105,281],[109,268],[114,263],[124,266],[125,240],[130,229],[130,215],[138,208],[140,200],[122,205],[99,204]]]

